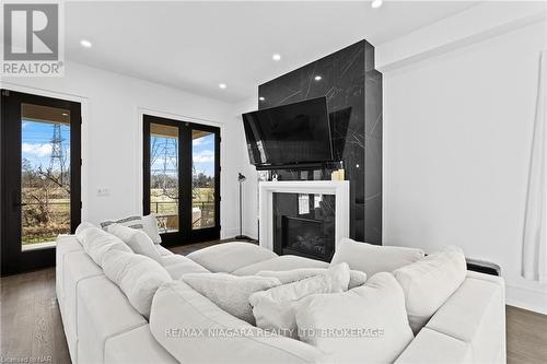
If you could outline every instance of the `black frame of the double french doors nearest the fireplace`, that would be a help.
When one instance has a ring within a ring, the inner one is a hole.
[[[142,115],[142,212],[150,213],[150,125],[160,124],[178,128],[178,232],[161,234],[162,245],[179,246],[220,238],[220,128]],[[214,134],[214,227],[191,228],[191,131],[202,130]],[[188,207],[190,207],[188,209]]]

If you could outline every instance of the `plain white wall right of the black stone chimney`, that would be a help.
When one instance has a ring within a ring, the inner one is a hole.
[[[458,245],[501,266],[509,304],[543,313],[547,284],[520,270],[545,32],[534,22],[384,71],[383,193],[384,244]]]

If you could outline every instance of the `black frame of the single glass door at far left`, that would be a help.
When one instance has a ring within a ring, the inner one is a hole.
[[[21,104],[70,110],[70,231],[81,222],[81,104],[72,101],[1,90],[1,274],[55,266],[55,247],[21,248]],[[19,136],[15,138],[15,136]],[[16,153],[15,155],[13,153]]]

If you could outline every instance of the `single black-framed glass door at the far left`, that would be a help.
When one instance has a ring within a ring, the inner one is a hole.
[[[55,265],[80,223],[80,104],[2,90],[2,274]]]

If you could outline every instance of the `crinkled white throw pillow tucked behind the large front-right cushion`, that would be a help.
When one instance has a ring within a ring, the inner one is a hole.
[[[278,334],[298,338],[294,313],[300,300],[316,293],[338,293],[348,290],[349,268],[340,263],[319,275],[257,292],[248,298],[256,326]]]

